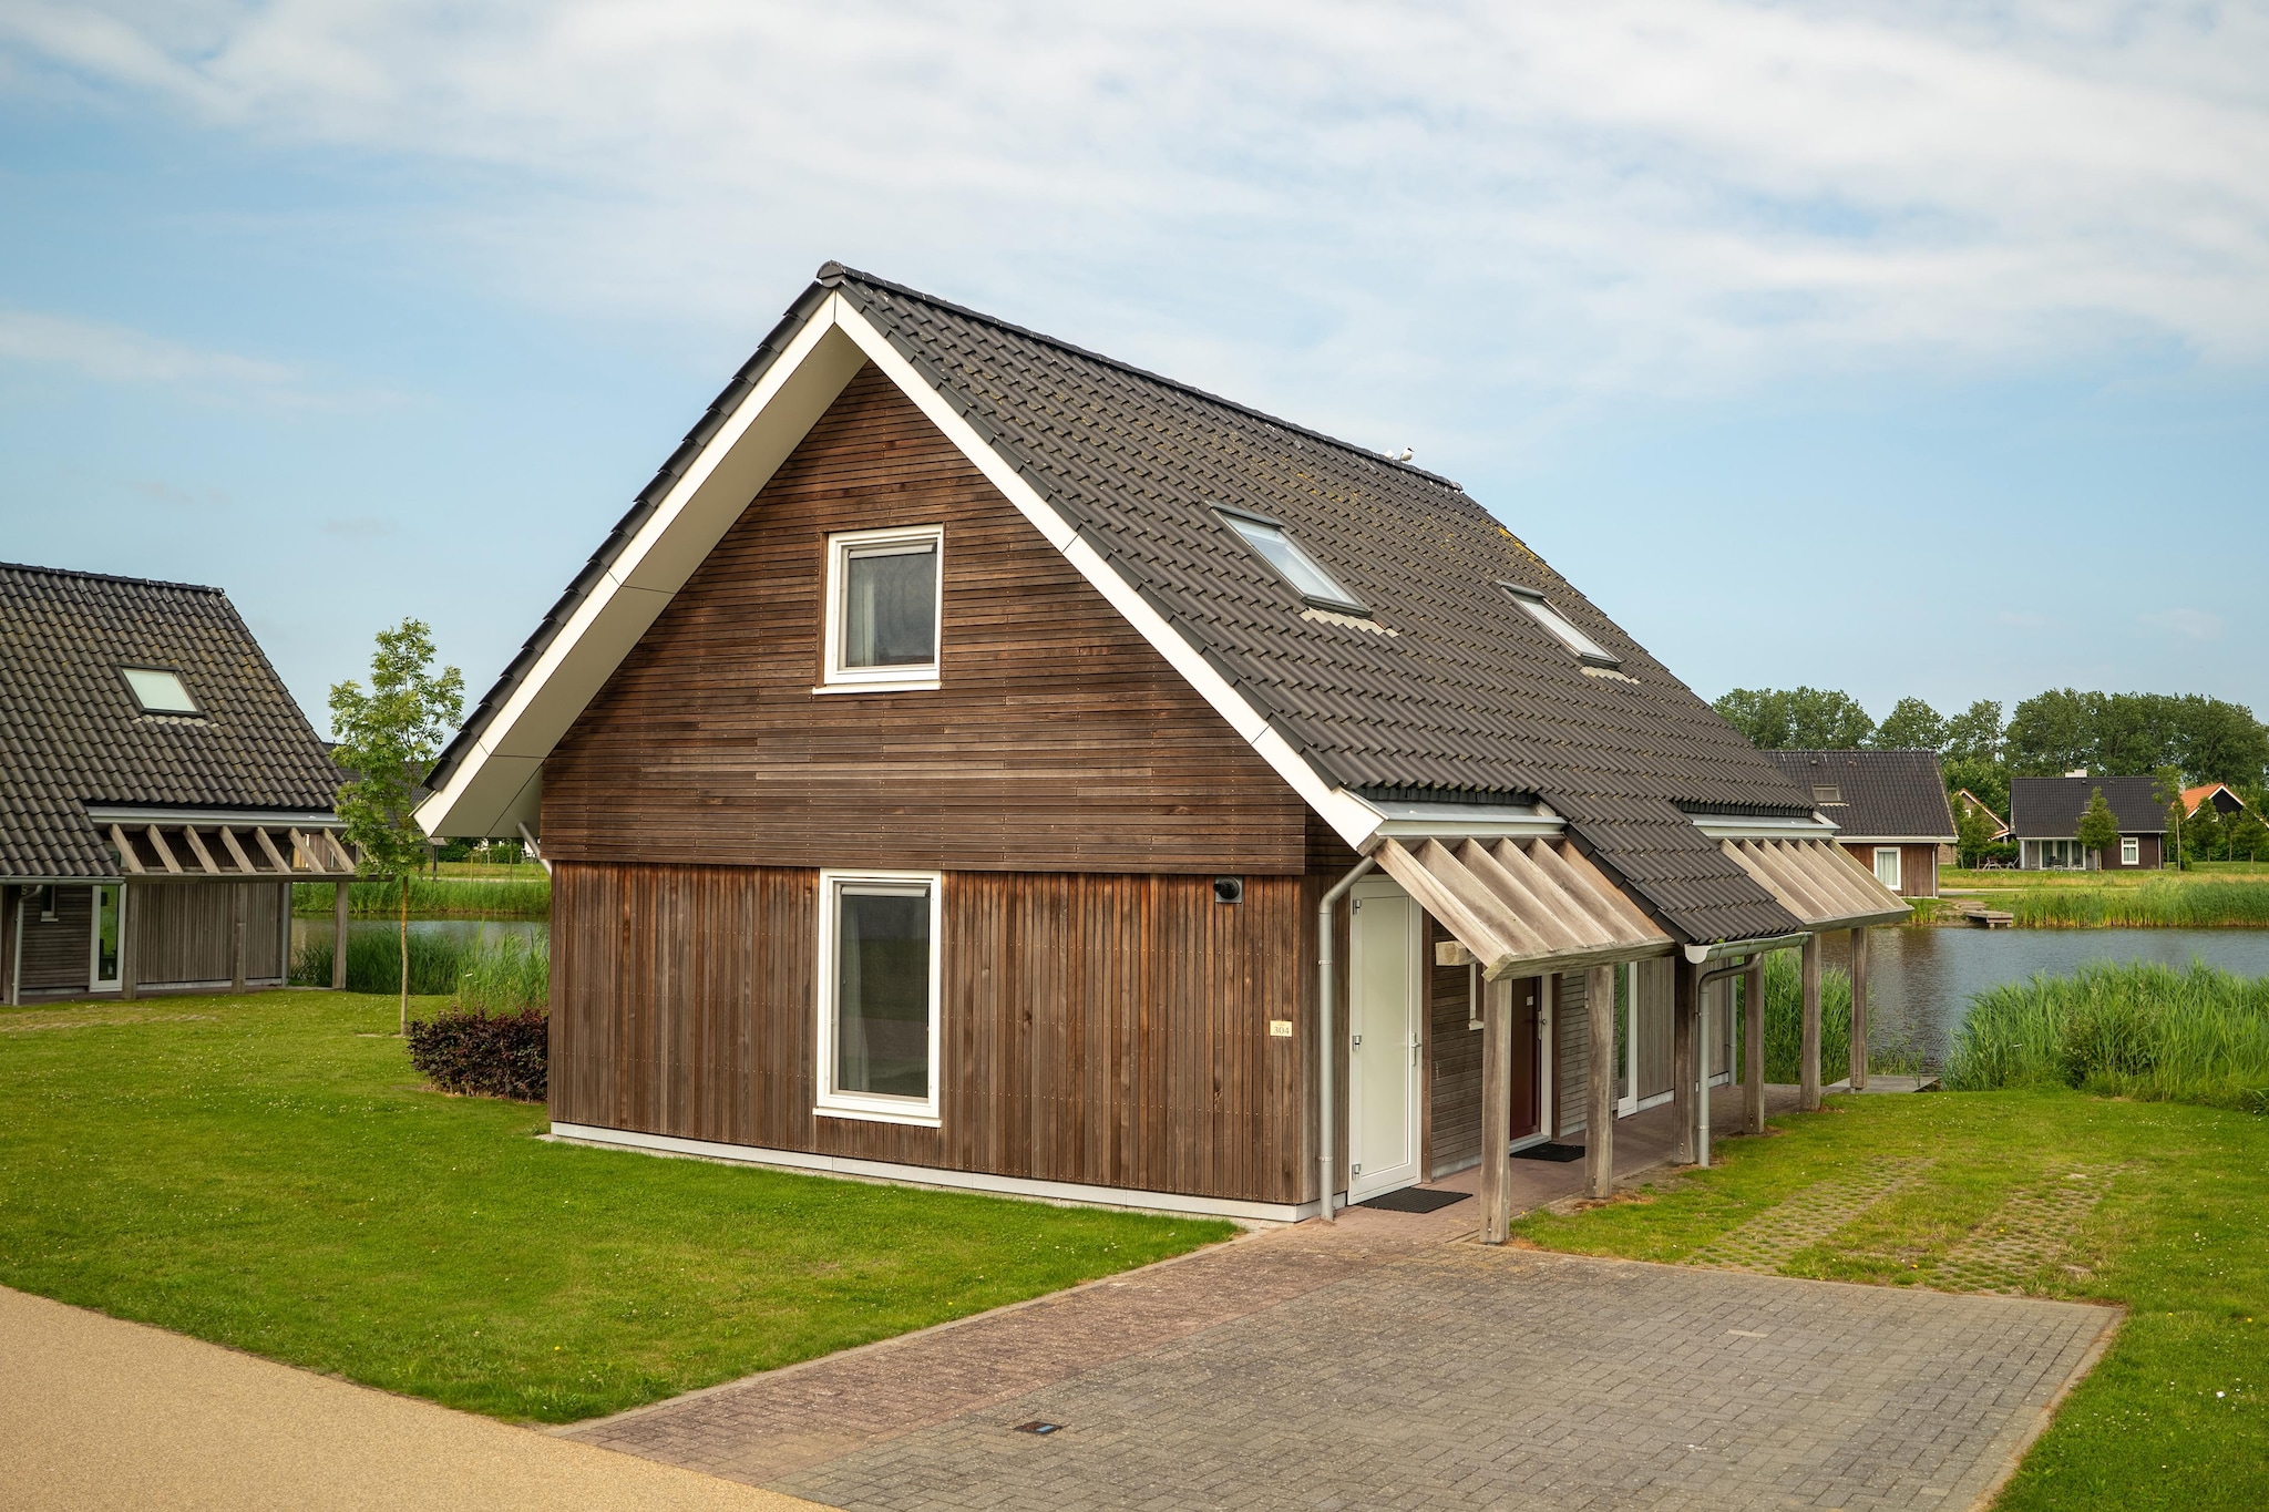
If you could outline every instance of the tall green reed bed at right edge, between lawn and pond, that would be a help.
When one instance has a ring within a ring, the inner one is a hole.
[[[2072,1086],[2269,1113],[2269,977],[2092,963],[1969,1000],[1947,1086]]]

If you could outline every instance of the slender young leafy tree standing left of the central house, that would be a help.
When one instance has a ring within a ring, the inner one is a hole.
[[[433,676],[433,635],[404,619],[379,630],[370,655],[370,689],[347,678],[331,687],[334,759],[349,773],[338,789],[347,841],[361,848],[361,870],[402,886],[402,1034],[411,1031],[411,875],[427,859],[427,836],[411,812],[417,784],[433,768],[442,737],[465,714],[465,678],[456,666]],[[338,941],[334,950],[345,950]]]

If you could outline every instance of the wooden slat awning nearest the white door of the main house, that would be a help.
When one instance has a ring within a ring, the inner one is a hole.
[[[1488,979],[1670,954],[1670,936],[1568,841],[1384,841],[1373,859]]]

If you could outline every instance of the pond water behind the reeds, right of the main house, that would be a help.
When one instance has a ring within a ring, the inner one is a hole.
[[[1852,963],[1845,934],[1827,941],[1831,966]],[[1942,1065],[1969,995],[2035,972],[2069,975],[2085,961],[2205,961],[2269,977],[2269,929],[1876,929],[1867,938],[1867,1004],[1879,1045],[1915,1045]]]

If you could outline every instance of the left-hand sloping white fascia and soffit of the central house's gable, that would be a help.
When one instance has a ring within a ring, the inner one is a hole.
[[[449,782],[417,807],[427,834],[535,827],[542,759],[864,365],[860,347],[833,326],[840,304],[830,297],[803,322],[599,574]]]

